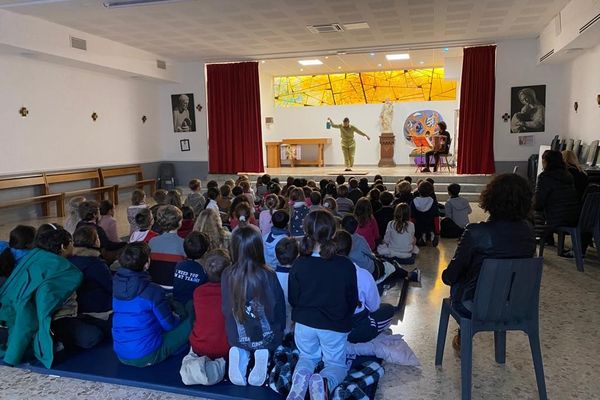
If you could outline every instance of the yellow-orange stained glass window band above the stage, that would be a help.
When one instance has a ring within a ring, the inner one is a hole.
[[[276,107],[456,100],[443,68],[275,77]]]

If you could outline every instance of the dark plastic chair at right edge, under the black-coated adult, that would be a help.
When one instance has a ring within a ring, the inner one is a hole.
[[[575,265],[578,271],[583,272],[582,233],[593,235],[598,258],[600,258],[600,186],[590,185],[586,190],[577,226],[559,226],[556,228],[556,232],[558,232],[558,254],[564,252],[565,236],[571,236],[573,256],[575,257]],[[540,240],[539,242],[540,257],[544,255],[544,242],[545,240]]]

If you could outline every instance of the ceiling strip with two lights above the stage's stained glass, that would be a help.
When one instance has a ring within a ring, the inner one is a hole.
[[[410,60],[388,61],[389,52],[362,53],[311,57],[323,62],[323,65],[302,66],[301,58],[283,58],[263,60],[260,64],[262,72],[274,76],[313,75],[336,72],[388,71],[414,68],[443,67],[448,57],[462,57],[462,48],[446,48],[431,50],[408,50]]]

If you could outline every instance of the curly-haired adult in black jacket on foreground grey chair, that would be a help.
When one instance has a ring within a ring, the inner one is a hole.
[[[481,193],[479,205],[490,214],[485,222],[469,224],[454,257],[442,273],[450,286],[454,306],[469,314],[483,260],[486,258],[529,258],[535,254],[535,235],[527,221],[531,189],[515,174],[496,176]],[[452,346],[460,350],[460,331]]]

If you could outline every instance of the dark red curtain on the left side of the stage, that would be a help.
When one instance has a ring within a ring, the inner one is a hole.
[[[208,170],[263,172],[258,63],[206,67]]]

